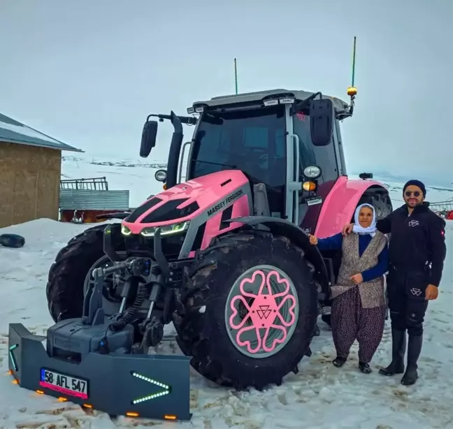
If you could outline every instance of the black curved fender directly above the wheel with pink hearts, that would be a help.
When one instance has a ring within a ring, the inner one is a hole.
[[[321,284],[322,293],[325,293],[325,296],[330,295],[329,276],[324,259],[317,246],[310,245],[308,235],[302,228],[285,219],[268,216],[236,217],[229,219],[229,222],[240,222],[247,226],[265,226],[271,233],[282,235],[301,247],[305,258],[315,266],[316,279]]]

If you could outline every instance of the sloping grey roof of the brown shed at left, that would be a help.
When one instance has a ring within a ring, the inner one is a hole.
[[[20,145],[83,152],[0,113],[0,140]]]

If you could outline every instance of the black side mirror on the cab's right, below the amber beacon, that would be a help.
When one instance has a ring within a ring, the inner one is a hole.
[[[310,103],[310,134],[315,146],[327,146],[332,139],[333,103],[331,99],[312,100]]]

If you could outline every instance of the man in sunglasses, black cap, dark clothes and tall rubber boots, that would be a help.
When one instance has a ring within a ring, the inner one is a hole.
[[[403,188],[405,205],[377,221],[377,230],[391,233],[387,295],[391,319],[391,363],[380,374],[403,374],[401,384],[418,379],[417,361],[422,351],[423,321],[428,302],[438,297],[445,260],[445,221],[429,210],[426,188],[409,180]],[[343,234],[352,231],[352,224]],[[408,361],[404,368],[408,333]]]

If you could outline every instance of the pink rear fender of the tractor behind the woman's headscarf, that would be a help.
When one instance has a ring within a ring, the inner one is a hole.
[[[315,228],[317,238],[326,238],[341,232],[349,224],[361,196],[370,187],[384,189],[375,180],[355,180],[346,176],[338,177],[331,191],[324,199]]]

